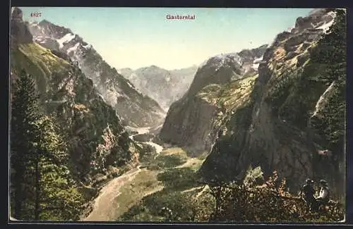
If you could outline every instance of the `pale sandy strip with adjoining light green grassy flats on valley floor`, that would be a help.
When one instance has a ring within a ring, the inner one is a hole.
[[[180,160],[175,160],[179,158]],[[165,171],[190,168],[196,171],[203,159],[190,158],[181,148],[164,149],[156,159],[141,164],[102,187],[94,200],[92,212],[81,221],[116,221],[143,197],[166,190],[160,175]],[[173,182],[169,180],[168,182]],[[190,192],[201,187],[188,186],[180,192]]]

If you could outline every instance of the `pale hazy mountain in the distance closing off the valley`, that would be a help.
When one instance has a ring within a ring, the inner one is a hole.
[[[119,72],[130,80],[138,91],[155,99],[164,110],[167,110],[172,102],[180,99],[189,89],[196,66],[177,70],[165,70],[157,66],[136,70],[122,68]]]

